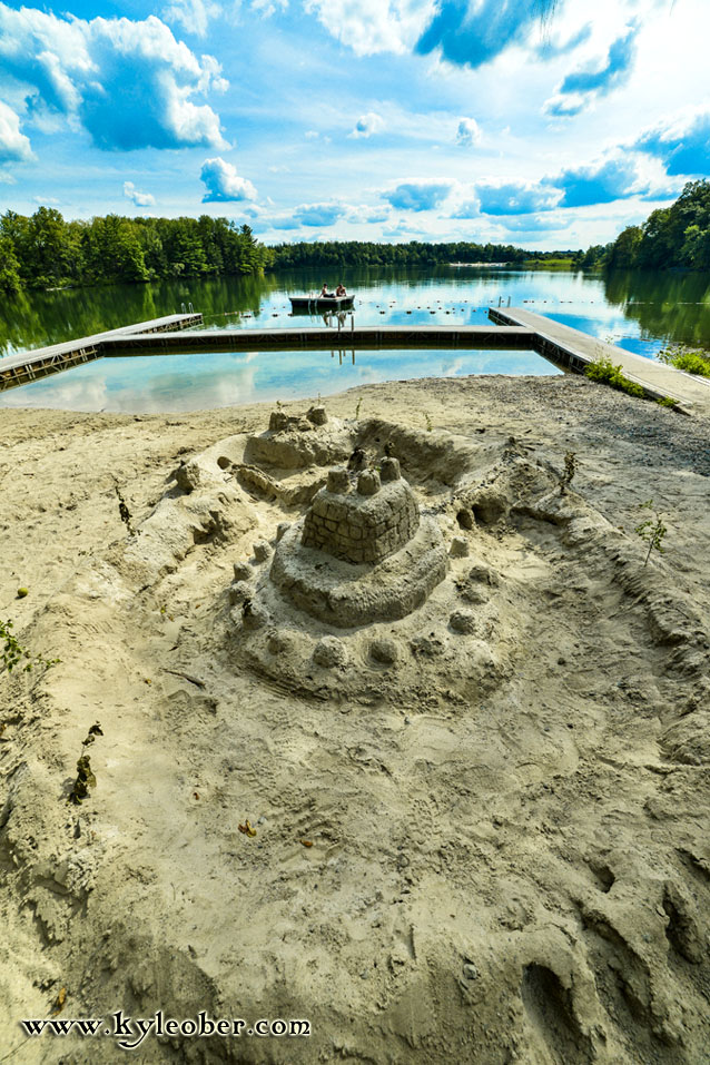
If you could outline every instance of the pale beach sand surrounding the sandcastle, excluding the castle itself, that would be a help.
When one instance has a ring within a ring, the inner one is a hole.
[[[0,618],[60,659],[0,672],[0,1061],[710,1061],[710,422],[566,376],[326,407],[373,454],[395,440],[465,541],[332,665],[322,622],[272,598],[252,635],[229,602],[305,506],[229,464],[267,407],[0,415]],[[131,1058],[19,1024],[119,1009],[312,1034],[188,1027]]]

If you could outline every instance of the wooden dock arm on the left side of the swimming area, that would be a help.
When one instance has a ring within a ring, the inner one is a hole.
[[[76,341],[65,341],[62,344],[0,358],[0,392],[48,377],[80,363],[101,358],[105,345],[114,337],[130,336],[135,333],[154,336],[156,333],[186,329],[191,325],[199,325],[201,321],[201,314],[169,314],[162,318],[138,322],[135,325],[121,326],[120,329],[108,329],[106,333],[95,333],[93,336],[82,336]]]

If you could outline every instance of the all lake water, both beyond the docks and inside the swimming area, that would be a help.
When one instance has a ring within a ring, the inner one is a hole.
[[[356,293],[357,325],[483,325],[489,306],[526,306],[653,358],[668,343],[710,347],[710,276],[440,267],[280,272],[264,278],[165,282],[6,298],[0,354],[172,314],[191,304],[205,328],[324,325],[290,315],[288,294],[339,280]],[[343,323],[349,328],[349,315]],[[556,374],[530,352],[248,352],[102,358],[11,389],[0,406],[146,413],[328,395],[355,385],[467,374]],[[341,344],[346,346],[346,334]]]

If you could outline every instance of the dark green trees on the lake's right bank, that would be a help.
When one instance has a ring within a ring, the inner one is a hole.
[[[670,207],[652,211],[641,226],[627,226],[611,244],[579,252],[574,265],[710,270],[710,181],[688,181]]]

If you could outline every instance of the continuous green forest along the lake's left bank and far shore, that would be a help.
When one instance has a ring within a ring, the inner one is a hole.
[[[166,278],[262,274],[306,267],[412,266],[445,263],[540,263],[574,253],[525,252],[512,245],[379,244],[317,240],[259,244],[227,218],[125,218],[66,221],[51,207],[31,217],[0,215],[0,292],[78,288]]]

